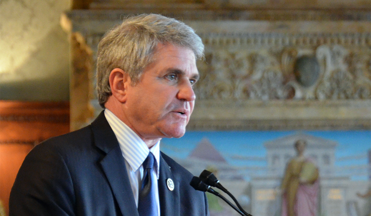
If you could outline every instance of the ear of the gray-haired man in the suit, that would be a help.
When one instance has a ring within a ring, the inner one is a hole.
[[[109,86],[111,87],[112,96],[119,102],[126,102],[126,93],[130,83],[129,75],[124,70],[115,68],[109,74]]]

